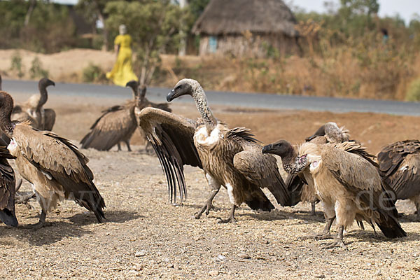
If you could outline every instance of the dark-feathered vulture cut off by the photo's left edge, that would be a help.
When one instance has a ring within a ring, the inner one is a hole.
[[[8,159],[13,159],[6,148],[6,142],[0,139],[0,221],[11,227],[18,226],[15,215],[15,172]]]

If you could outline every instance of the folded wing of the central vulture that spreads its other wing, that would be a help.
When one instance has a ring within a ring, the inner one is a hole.
[[[233,165],[251,183],[259,188],[268,188],[277,203],[285,206],[289,195],[281,178],[277,160],[272,155],[263,155],[261,151],[260,145],[247,143],[244,145],[244,151],[237,153],[233,158]]]

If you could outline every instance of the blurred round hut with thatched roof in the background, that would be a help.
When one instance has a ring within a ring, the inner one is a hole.
[[[296,19],[282,0],[211,0],[193,27],[200,55],[264,57],[298,50]]]

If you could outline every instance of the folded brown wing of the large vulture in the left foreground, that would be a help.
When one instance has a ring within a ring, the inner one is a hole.
[[[89,161],[68,140],[48,131],[40,132],[27,125],[16,125],[13,141],[32,165],[40,169],[48,179],[56,180],[80,206],[93,211],[102,222],[105,202],[94,186],[93,173],[87,167]]]

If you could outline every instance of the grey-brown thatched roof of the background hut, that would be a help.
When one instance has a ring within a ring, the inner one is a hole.
[[[260,34],[297,36],[296,19],[282,0],[211,0],[193,27],[195,34]]]

